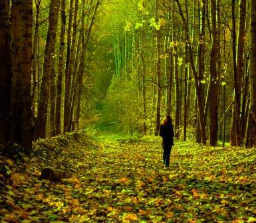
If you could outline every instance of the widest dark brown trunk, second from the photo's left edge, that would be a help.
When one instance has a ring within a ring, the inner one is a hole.
[[[13,142],[32,149],[31,68],[33,1],[15,0],[11,7],[13,70]],[[22,56],[21,56],[22,55]]]

